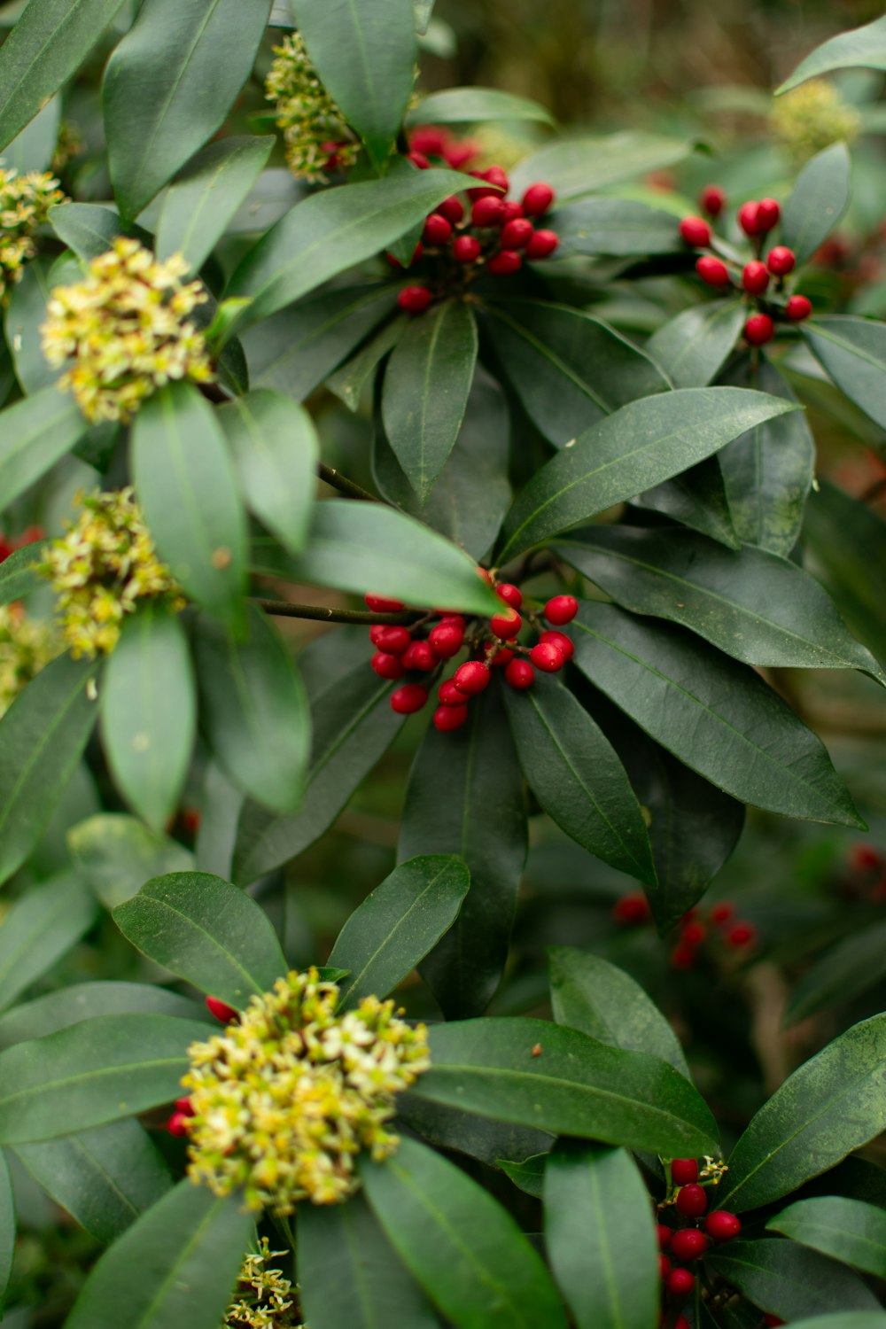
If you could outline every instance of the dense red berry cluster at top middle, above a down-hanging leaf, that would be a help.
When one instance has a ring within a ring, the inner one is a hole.
[[[428,129],[420,141],[429,145],[436,133]],[[414,141],[413,136],[413,145]],[[440,145],[434,142],[433,146]],[[420,170],[432,165],[414,146],[408,155]],[[501,166],[470,174],[482,183],[466,191],[468,203],[452,194],[425,219],[421,241],[412,255],[413,264],[418,260],[422,264],[422,280],[404,287],[397,296],[406,314],[424,314],[434,299],[464,292],[481,272],[510,276],[519,271],[525,258],[549,258],[559,245],[555,231],[535,229],[538,218],[554,202],[550,185],[530,185],[517,202],[507,198],[510,181]],[[388,262],[400,266],[391,254]]]

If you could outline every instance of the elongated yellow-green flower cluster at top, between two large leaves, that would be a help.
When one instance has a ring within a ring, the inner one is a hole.
[[[360,145],[320,82],[300,33],[290,33],[274,53],[276,60],[264,81],[264,94],[276,102],[276,122],[283,130],[290,170],[312,183],[327,179],[331,157],[348,170],[357,159]]]

